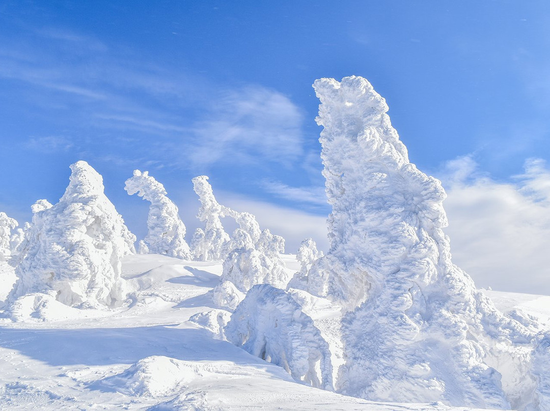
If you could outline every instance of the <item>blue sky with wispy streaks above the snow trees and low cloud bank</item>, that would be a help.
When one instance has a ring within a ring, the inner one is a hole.
[[[7,0],[0,209],[28,220],[84,159],[138,236],[147,204],[123,190],[134,169],[166,186],[190,230],[199,174],[234,208],[313,226],[328,207],[311,84],[351,74],[386,97],[411,162],[449,195],[449,165],[467,171],[460,184],[525,195],[526,159],[550,157],[546,1]]]

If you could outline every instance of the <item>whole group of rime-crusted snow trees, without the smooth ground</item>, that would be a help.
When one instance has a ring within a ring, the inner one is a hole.
[[[384,99],[362,77],[314,88],[332,205],[326,255],[305,240],[301,268],[290,272],[283,238],[219,204],[206,176],[193,179],[205,226],[188,246],[162,184],[136,170],[125,188],[151,203],[140,252],[223,261],[211,292],[221,310],[206,323],[215,317],[219,336],[303,384],[374,401],[550,409],[549,331],[520,312],[500,313],[452,263],[445,192],[409,162]],[[135,236],[101,176],[85,162],[71,168],[63,197],[35,203],[30,225],[15,229],[0,213],[0,262],[18,277],[8,304],[40,293],[79,308],[125,299],[120,260],[135,252]],[[232,235],[223,218],[237,223]],[[313,318],[323,304],[339,314]]]

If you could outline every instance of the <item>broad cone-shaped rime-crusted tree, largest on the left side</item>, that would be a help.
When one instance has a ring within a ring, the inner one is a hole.
[[[116,306],[125,298],[120,259],[135,253],[135,236],[103,193],[102,177],[84,161],[71,165],[56,205],[33,205],[8,301],[47,293],[68,306]]]

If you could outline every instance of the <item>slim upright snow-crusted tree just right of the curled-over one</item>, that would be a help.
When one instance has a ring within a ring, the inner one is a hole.
[[[226,207],[216,201],[207,176],[195,177],[193,189],[201,202],[197,218],[205,221],[205,229],[197,229],[191,241],[193,255],[195,259],[202,261],[224,259],[227,257],[225,249],[229,235],[223,229],[220,218],[224,216]]]

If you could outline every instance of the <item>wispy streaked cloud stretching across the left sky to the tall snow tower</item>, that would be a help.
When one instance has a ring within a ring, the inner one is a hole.
[[[109,149],[125,146],[130,136],[144,142],[133,145],[125,158],[163,159],[202,172],[213,164],[290,166],[303,154],[303,114],[277,91],[227,88],[194,74],[172,73],[78,33],[44,29],[35,36],[43,49],[29,43],[23,53],[9,43],[0,47],[0,77],[26,84],[37,107],[64,108],[54,114],[63,118],[64,131],[76,136],[74,147],[97,158],[112,155],[101,152],[105,147],[86,148],[97,132],[112,134]],[[64,55],[73,55],[75,48],[78,59],[67,61]]]

